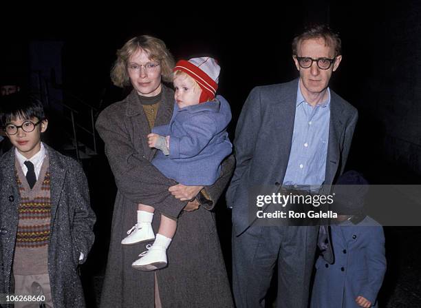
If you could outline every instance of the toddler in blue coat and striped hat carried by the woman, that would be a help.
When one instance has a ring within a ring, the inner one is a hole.
[[[212,185],[221,163],[231,153],[226,127],[231,120],[228,102],[216,96],[219,65],[210,57],[178,61],[174,68],[175,105],[169,125],[153,127],[149,147],[159,149],[152,163],[167,178],[191,186]],[[155,237],[151,222],[155,209],[138,205],[138,223],[129,230],[123,245],[153,240],[132,267],[151,271],[165,267],[166,249],[177,222],[161,215]]]

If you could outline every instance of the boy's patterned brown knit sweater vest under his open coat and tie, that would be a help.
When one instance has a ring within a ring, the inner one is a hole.
[[[36,275],[48,273],[48,243],[50,241],[51,195],[48,155],[32,189],[25,174],[15,161],[15,171],[21,203],[13,258],[13,274]]]

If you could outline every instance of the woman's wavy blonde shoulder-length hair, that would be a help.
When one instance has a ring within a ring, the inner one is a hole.
[[[173,56],[166,48],[165,43],[156,37],[141,35],[140,37],[129,39],[121,49],[117,50],[117,60],[114,63],[114,67],[111,69],[111,81],[114,85],[120,88],[125,85],[130,85],[130,78],[127,73],[127,63],[131,55],[135,54],[138,50],[144,50],[149,54],[151,60],[160,63],[162,80],[166,82],[173,81],[172,73],[175,62]]]

